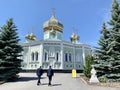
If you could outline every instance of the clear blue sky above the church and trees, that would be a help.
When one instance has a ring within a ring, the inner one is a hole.
[[[110,19],[113,0],[0,0],[0,26],[14,19],[20,42],[34,30],[38,40],[43,39],[43,23],[55,8],[56,18],[64,25],[63,40],[70,41],[73,32],[80,42],[96,46],[103,22]],[[118,0],[119,1],[119,0]]]

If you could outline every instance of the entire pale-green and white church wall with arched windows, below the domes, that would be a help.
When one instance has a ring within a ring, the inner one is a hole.
[[[24,69],[36,69],[40,65],[48,69],[52,65],[54,69],[71,70],[73,68],[81,70],[85,62],[85,56],[91,54],[89,46],[82,44],[71,44],[68,42],[42,41],[39,44],[28,45],[24,48],[22,57],[24,59]],[[31,54],[38,52],[38,60]],[[45,60],[45,52],[47,59]],[[26,65],[26,67],[25,67]]]

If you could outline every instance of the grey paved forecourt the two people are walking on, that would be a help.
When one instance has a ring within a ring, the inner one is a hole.
[[[79,74],[77,74],[79,76]],[[46,74],[41,79],[42,85],[37,86],[35,73],[20,73],[21,79],[17,82],[8,82],[0,85],[0,90],[120,90],[120,88],[90,86],[84,84],[80,78],[72,78],[68,73],[55,73],[52,86],[48,86]]]

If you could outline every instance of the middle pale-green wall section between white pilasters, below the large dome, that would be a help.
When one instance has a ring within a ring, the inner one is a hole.
[[[60,53],[60,45],[50,44],[43,46],[43,67],[48,68],[50,65],[54,69],[61,68],[61,53]],[[47,60],[45,60],[45,53],[47,53]],[[56,54],[58,53],[58,60]]]

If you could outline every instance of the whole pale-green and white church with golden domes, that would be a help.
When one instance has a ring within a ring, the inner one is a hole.
[[[50,65],[56,70],[82,70],[85,57],[91,55],[89,45],[81,44],[79,36],[73,33],[71,42],[62,40],[63,24],[60,23],[54,13],[43,24],[44,40],[36,40],[34,33],[26,35],[23,47],[22,69],[34,70],[39,66],[47,69]]]

